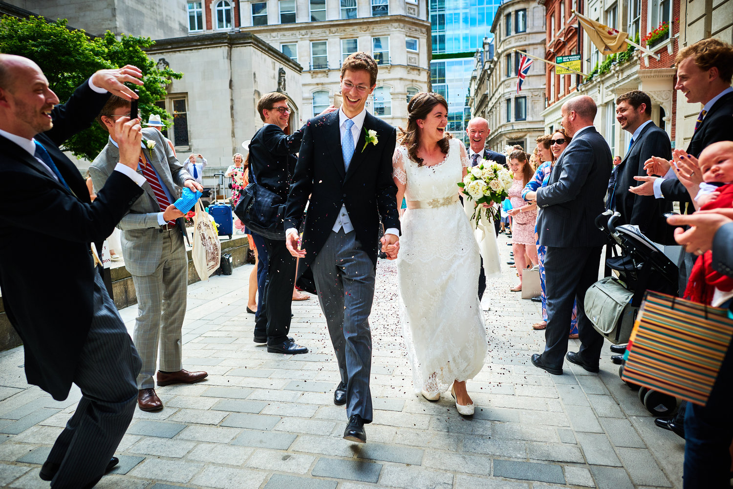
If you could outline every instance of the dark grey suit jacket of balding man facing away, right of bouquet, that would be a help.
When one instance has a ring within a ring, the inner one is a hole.
[[[606,238],[595,226],[603,213],[603,197],[611,176],[611,149],[595,128],[572,138],[537,189],[539,244],[574,248],[603,246]]]

